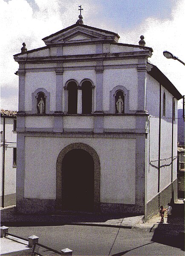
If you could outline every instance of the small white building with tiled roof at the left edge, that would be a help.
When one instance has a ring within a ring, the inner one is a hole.
[[[1,109],[1,206],[15,205],[17,167],[17,111]]]

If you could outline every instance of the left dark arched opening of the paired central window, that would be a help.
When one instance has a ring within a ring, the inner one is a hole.
[[[71,81],[67,85],[68,89],[68,114],[77,114],[77,84]]]

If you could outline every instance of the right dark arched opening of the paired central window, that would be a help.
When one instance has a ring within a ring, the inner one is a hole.
[[[82,114],[91,114],[92,112],[92,83],[84,81],[82,89]]]

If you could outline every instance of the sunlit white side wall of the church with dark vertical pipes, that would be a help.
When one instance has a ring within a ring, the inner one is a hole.
[[[165,93],[165,115],[163,114],[163,97]],[[153,97],[155,95],[155,98]],[[148,162],[147,171],[147,202],[156,200],[157,204],[166,205],[171,201],[172,194],[168,187],[176,182],[177,172],[177,117],[173,121],[173,146],[172,146],[172,109],[173,100],[177,109],[177,100],[161,85],[161,129],[160,129],[160,148],[159,148],[159,112],[160,112],[160,84],[153,77],[147,75],[147,111],[149,112],[148,121]],[[175,110],[175,113],[177,111]],[[176,115],[176,114],[175,114]],[[172,156],[173,147],[173,156]],[[160,157],[159,157],[160,150]],[[159,162],[160,159],[160,174]],[[173,168],[173,169],[172,169]],[[158,181],[159,179],[159,181]],[[158,195],[161,196],[158,198]],[[177,195],[174,193],[174,198]],[[159,202],[160,201],[160,202]],[[155,207],[154,207],[155,208]],[[153,209],[154,209],[153,208]],[[150,211],[153,210],[152,208]],[[154,212],[155,213],[155,212]]]

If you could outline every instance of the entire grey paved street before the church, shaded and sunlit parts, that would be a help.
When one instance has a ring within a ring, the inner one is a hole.
[[[59,251],[67,247],[73,255],[184,256],[184,216],[175,216],[171,224],[167,218],[164,224],[159,220],[159,214],[143,223],[142,216],[16,215],[12,207],[1,210],[1,224],[9,233],[25,239],[36,235],[40,244]],[[26,245],[21,249],[23,244],[20,251],[8,253],[7,240],[1,238],[1,255],[30,255]]]

